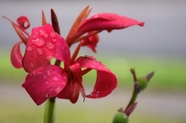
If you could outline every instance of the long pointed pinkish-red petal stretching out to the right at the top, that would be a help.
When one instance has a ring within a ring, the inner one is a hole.
[[[143,26],[144,22],[120,16],[114,13],[99,13],[86,19],[79,27],[77,37],[83,35],[86,32],[94,30],[113,30],[124,29],[129,26],[139,25]]]

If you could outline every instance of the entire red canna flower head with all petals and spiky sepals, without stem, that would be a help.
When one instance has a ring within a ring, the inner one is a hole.
[[[92,56],[76,58],[78,52],[81,46],[88,46],[96,52],[98,33],[103,30],[110,32],[133,25],[143,26],[144,23],[111,13],[96,14],[86,19],[89,13],[87,6],[77,17],[66,40],[59,35],[58,21],[53,10],[52,25],[46,23],[42,13],[43,26],[33,28],[31,35],[26,31],[30,23],[25,16],[17,19],[18,24],[8,19],[21,38],[12,48],[11,62],[14,67],[23,67],[28,72],[22,86],[37,105],[45,102],[48,97],[69,99],[76,103],[79,93],[84,98],[102,98],[116,88],[117,78],[106,66]],[[26,45],[24,56],[20,51],[22,42]],[[71,56],[69,47],[77,42],[79,45]],[[52,59],[56,59],[55,64],[51,64]],[[64,67],[60,65],[61,62]],[[86,94],[83,76],[91,70],[96,70],[96,83],[93,91]]]

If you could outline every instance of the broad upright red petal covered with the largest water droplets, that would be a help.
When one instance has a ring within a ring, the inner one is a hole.
[[[33,28],[27,43],[23,67],[27,72],[49,64],[52,58],[70,62],[70,50],[66,41],[50,24]]]

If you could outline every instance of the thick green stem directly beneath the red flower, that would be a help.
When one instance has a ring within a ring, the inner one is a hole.
[[[45,104],[44,123],[54,123],[55,98],[48,98]]]

